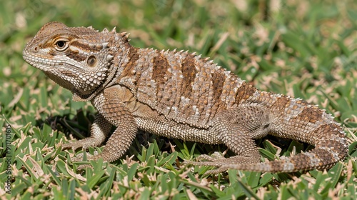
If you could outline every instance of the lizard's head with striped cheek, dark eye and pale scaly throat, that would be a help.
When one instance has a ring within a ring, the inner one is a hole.
[[[49,22],[26,44],[23,57],[79,100],[88,100],[113,76],[111,67],[119,36],[127,39],[125,34],[107,29],[99,32],[91,27],[69,28]]]

